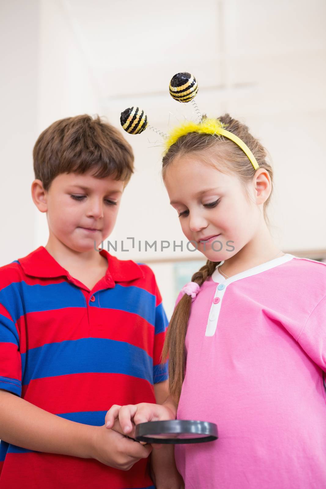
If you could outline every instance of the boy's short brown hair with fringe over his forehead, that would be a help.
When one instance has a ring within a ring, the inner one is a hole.
[[[77,115],[51,124],[33,149],[34,173],[48,190],[62,173],[112,176],[127,185],[133,173],[133,153],[123,135],[99,116]]]

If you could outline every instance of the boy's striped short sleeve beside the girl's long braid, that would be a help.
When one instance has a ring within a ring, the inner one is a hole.
[[[155,284],[156,285],[156,284]],[[155,310],[155,336],[153,351],[153,383],[163,382],[168,379],[168,361],[161,364],[161,356],[166,331],[168,328],[168,318],[163,308],[161,294],[156,285],[156,310]]]

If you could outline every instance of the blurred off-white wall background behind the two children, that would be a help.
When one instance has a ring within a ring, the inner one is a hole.
[[[38,135],[82,113],[120,127],[120,112],[131,105],[166,132],[195,118],[191,104],[169,95],[180,71],[196,76],[201,112],[246,122],[271,155],[276,244],[326,260],[325,0],[2,0],[0,10],[0,266],[47,242],[46,217],[30,193]],[[178,289],[204,261],[186,249],[170,208],[162,140],[149,129],[124,134],[136,171],[109,238],[117,251],[109,251],[153,268],[170,316]],[[157,251],[145,252],[145,241],[155,240]],[[163,240],[171,246],[160,251]],[[181,241],[184,250],[174,250]]]

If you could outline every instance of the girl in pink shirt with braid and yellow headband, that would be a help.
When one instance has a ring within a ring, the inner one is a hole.
[[[239,140],[181,128],[163,158],[182,230],[208,259],[169,326],[170,398],[112,406],[106,422],[217,423],[216,442],[175,445],[186,489],[326,488],[326,265],[273,243],[266,152],[219,120]]]

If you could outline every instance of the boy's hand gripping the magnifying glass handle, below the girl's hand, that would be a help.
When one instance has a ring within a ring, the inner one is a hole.
[[[115,430],[103,426],[94,426],[92,440],[92,458],[109,467],[129,470],[141,458],[147,458],[152,445],[141,445],[126,438],[118,431],[118,422],[114,423]],[[121,430],[122,431],[122,430]]]

